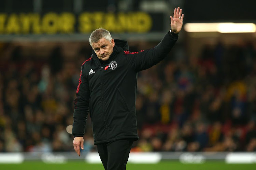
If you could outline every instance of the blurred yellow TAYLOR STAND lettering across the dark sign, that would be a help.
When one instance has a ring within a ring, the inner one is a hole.
[[[97,28],[114,33],[145,33],[152,28],[152,18],[144,12],[131,13],[0,13],[0,34],[91,33]]]

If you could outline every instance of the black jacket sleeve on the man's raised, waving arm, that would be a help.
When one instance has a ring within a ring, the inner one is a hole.
[[[177,39],[178,35],[168,32],[161,42],[152,49],[132,53],[125,51],[129,66],[138,72],[156,65],[166,58]]]

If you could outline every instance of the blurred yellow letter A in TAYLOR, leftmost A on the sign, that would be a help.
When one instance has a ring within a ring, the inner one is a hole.
[[[6,33],[18,34],[19,32],[20,32],[20,25],[19,25],[18,16],[16,14],[11,14],[6,25]]]

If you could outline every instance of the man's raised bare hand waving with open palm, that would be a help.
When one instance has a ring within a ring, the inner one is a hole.
[[[174,9],[173,17],[171,18],[171,28],[172,32],[179,33],[183,25],[184,14],[182,14],[182,9],[180,7]]]

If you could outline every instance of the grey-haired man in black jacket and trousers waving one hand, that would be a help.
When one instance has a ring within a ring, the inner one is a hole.
[[[105,170],[124,170],[133,141],[138,140],[136,121],[137,73],[163,60],[178,39],[182,10],[174,10],[171,30],[154,48],[129,52],[127,41],[114,40],[105,29],[89,38],[93,55],[84,62],[74,101],[72,135],[80,156],[90,111],[94,144]]]

